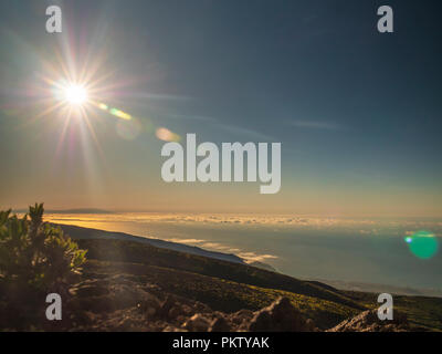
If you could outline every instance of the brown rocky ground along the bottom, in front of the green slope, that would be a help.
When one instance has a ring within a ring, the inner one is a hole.
[[[305,319],[286,298],[260,311],[224,313],[212,311],[201,302],[166,293],[156,284],[141,285],[125,274],[85,280],[70,292],[72,298],[66,303],[67,315],[63,323],[71,331],[317,331],[313,321]],[[403,315],[394,313],[394,317],[392,322],[381,322],[376,311],[366,311],[329,331],[410,330]]]

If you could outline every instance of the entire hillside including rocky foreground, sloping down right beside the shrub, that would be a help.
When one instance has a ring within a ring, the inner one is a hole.
[[[177,243],[63,229],[87,250],[82,273],[60,288],[63,320],[46,321],[44,298],[18,292],[0,299],[0,331],[442,331],[440,298],[394,295],[394,321],[381,322],[375,293],[295,279],[222,253],[183,252]],[[3,285],[0,294],[13,291]]]

